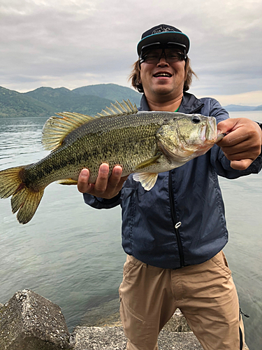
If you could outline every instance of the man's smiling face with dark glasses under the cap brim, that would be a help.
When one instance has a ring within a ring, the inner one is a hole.
[[[163,54],[159,48],[146,52],[145,62],[141,63],[140,80],[147,99],[166,102],[182,94],[185,62],[181,58],[174,59],[175,52],[181,51],[167,48]]]

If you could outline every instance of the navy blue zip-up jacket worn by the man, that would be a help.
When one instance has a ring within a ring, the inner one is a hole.
[[[145,96],[140,109],[149,110]],[[228,118],[215,99],[197,99],[187,92],[179,111],[214,116],[217,123]],[[258,173],[261,167],[260,155],[245,171],[232,169],[221,149],[214,145],[205,155],[159,174],[150,191],[133,181],[131,174],[119,195],[111,200],[87,194],[84,198],[97,209],[121,204],[122,246],[127,254],[149,265],[176,269],[209,260],[228,241],[217,175],[236,179]]]

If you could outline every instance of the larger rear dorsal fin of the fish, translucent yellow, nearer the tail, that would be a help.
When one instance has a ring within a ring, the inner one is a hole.
[[[77,127],[97,118],[71,112],[56,114],[57,116],[49,118],[43,127],[42,144],[48,151],[59,148],[65,137]]]

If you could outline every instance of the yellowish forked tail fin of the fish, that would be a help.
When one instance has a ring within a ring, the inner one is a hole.
[[[11,197],[13,214],[24,224],[33,218],[44,190],[31,190],[22,180],[25,167],[14,167],[0,172],[0,198]]]

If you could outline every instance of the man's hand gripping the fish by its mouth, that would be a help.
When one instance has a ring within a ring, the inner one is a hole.
[[[247,118],[229,118],[218,123],[217,130],[217,134],[226,134],[217,146],[231,160],[233,169],[247,169],[260,155],[262,131],[256,122]]]

